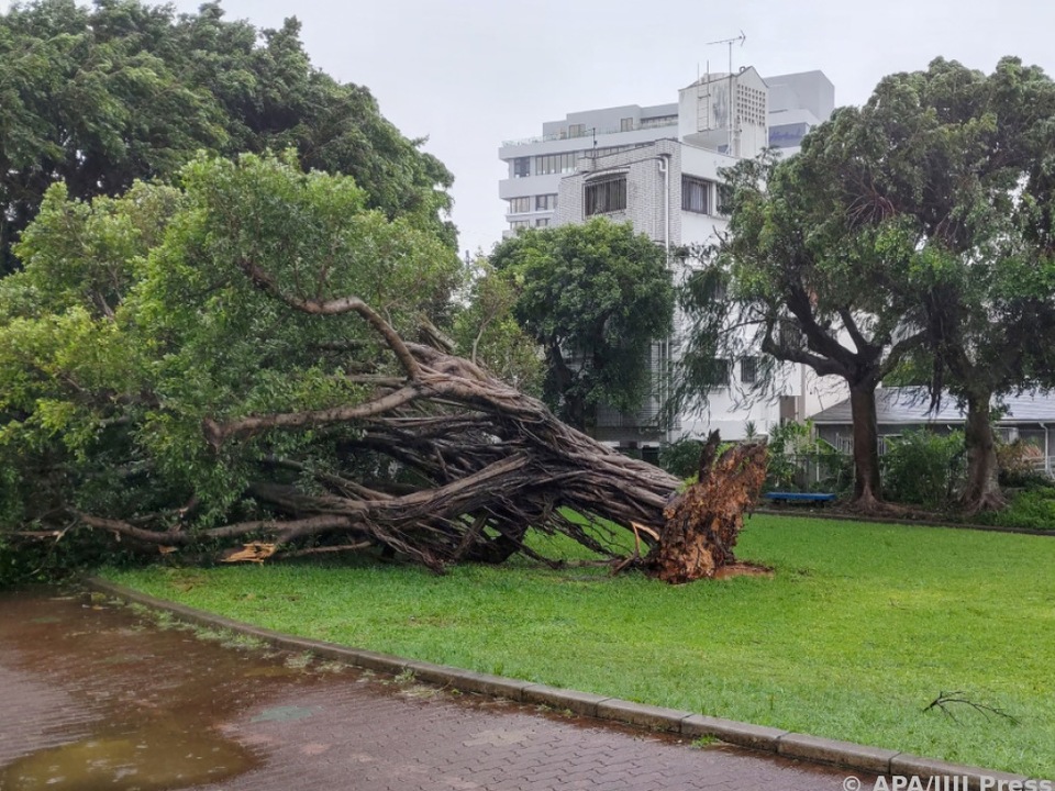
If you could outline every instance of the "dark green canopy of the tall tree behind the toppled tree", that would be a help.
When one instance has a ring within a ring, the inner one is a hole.
[[[47,188],[116,197],[197,151],[297,151],[347,174],[389,219],[442,212],[453,177],[381,116],[369,91],[313,68],[300,24],[258,31],[219,2],[196,14],[138,0],[16,3],[0,14],[0,270]]]

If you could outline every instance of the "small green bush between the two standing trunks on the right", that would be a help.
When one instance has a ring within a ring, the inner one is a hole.
[[[952,505],[965,471],[964,433],[908,431],[890,439],[882,457],[882,486],[899,503],[940,510]]]

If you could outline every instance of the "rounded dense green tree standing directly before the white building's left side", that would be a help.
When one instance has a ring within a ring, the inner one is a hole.
[[[545,354],[545,399],[590,432],[600,403],[632,412],[648,394],[648,352],[669,335],[674,288],[663,249],[631,225],[529,230],[504,239],[495,269],[518,292],[521,326]]]

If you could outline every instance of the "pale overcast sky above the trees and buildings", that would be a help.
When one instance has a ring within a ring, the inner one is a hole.
[[[9,5],[0,0],[0,9]],[[198,0],[177,0],[180,11]],[[941,55],[991,71],[1018,55],[1055,76],[1053,0],[224,0],[229,19],[303,23],[315,66],[367,86],[403,134],[455,175],[463,249],[489,250],[504,226],[503,140],[568,112],[660,104],[707,62],[765,75],[823,70],[835,103],[860,104],[880,77]]]

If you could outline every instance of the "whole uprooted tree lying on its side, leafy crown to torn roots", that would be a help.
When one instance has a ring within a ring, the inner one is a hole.
[[[157,196],[84,216],[64,196],[45,201],[24,271],[3,283],[5,447],[22,450],[5,456],[9,534],[87,526],[247,560],[380,547],[440,571],[545,560],[525,542],[533,528],[670,581],[733,559],[764,449],[708,460],[665,516],[680,481],[562,423],[422,320],[446,252],[364,212],[334,177],[249,157],[185,178],[186,194],[162,201],[164,234],[144,234],[109,279],[78,261],[77,288],[59,293],[47,267],[84,252],[48,245],[68,245],[77,223],[78,239],[111,244],[107,223],[148,226]],[[275,226],[289,214],[296,229]],[[410,282],[417,299],[393,288]],[[630,534],[647,557],[628,557]]]

